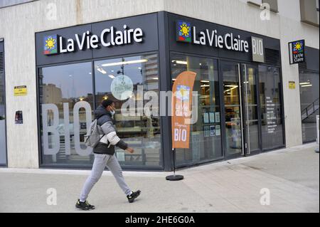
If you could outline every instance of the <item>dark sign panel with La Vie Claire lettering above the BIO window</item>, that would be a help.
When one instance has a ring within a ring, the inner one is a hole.
[[[36,33],[36,64],[158,50],[157,14]]]

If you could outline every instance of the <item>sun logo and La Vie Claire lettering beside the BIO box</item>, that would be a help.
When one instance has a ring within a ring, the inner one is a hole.
[[[249,43],[240,35],[219,35],[218,30],[209,29],[198,31],[196,26],[191,26],[187,21],[176,21],[176,41],[249,53]]]

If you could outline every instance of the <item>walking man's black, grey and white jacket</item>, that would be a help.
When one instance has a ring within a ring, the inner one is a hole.
[[[122,139],[119,139],[116,132],[116,127],[114,126],[112,115],[110,112],[105,110],[105,107],[100,105],[95,110],[95,118],[97,119],[97,125],[100,125],[105,134],[97,146],[93,149],[95,154],[114,154],[114,146],[121,149],[127,149],[128,144]]]

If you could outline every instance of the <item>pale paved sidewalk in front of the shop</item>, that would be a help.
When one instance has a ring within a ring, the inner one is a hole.
[[[128,204],[109,171],[89,197],[89,212],[319,212],[319,153],[315,143],[168,172],[124,172],[142,195]],[[0,169],[0,212],[78,212],[75,201],[90,171]],[[47,190],[57,205],[47,204]],[[264,194],[260,194],[260,191]],[[260,199],[270,191],[270,205]],[[85,211],[80,211],[85,212]]]

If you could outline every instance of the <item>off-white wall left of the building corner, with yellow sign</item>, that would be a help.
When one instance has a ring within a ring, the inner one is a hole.
[[[50,6],[56,6],[56,19],[50,14]],[[6,63],[9,167],[38,168],[35,32],[162,9],[158,0],[41,0],[0,9],[0,37],[4,38]],[[14,97],[16,85],[26,85],[28,95]],[[16,110],[23,111],[23,125],[14,124]]]

